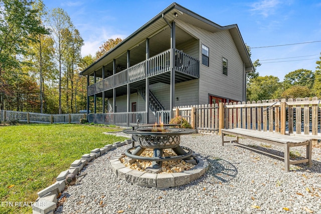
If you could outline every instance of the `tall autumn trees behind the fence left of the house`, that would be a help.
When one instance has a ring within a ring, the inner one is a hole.
[[[48,11],[33,0],[0,0],[0,8],[0,109],[52,114],[86,109],[87,78],[79,72],[121,39],[82,57],[84,41],[63,9]]]

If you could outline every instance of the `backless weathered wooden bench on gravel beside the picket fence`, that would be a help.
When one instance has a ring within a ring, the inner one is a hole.
[[[307,139],[306,137],[299,137],[294,135],[290,136],[290,135],[283,135],[279,133],[262,132],[262,131],[255,131],[255,130],[242,129],[242,128],[221,129],[221,134],[222,134],[223,146],[224,146],[224,143],[227,143],[227,142],[231,142],[232,144],[236,143],[239,146],[284,159],[285,171],[289,171],[289,164],[306,162],[307,166],[311,166],[311,149],[312,149],[311,139]],[[226,134],[236,136],[236,140],[225,141],[224,135]],[[247,138],[251,140],[257,140],[263,143],[284,147],[284,156],[279,156],[276,154],[272,154],[270,152],[265,152],[265,151],[256,149],[251,146],[241,144],[239,143],[239,137]],[[295,146],[306,146],[306,158],[299,159],[299,160],[290,160],[290,154],[289,154],[290,147],[295,147]]]

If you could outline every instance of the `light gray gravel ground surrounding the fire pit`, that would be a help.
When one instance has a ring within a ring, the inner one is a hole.
[[[167,189],[120,180],[109,159],[126,145],[88,163],[81,171],[87,174],[63,192],[59,199],[65,197],[65,202],[55,213],[321,213],[320,147],[312,148],[312,167],[290,165],[285,172],[283,160],[229,143],[222,146],[218,135],[182,136],[181,145],[210,163],[198,180]],[[269,149],[282,153],[279,147]],[[291,150],[305,155],[303,148]]]

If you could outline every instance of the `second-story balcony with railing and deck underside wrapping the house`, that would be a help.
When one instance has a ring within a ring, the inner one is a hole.
[[[175,70],[176,83],[199,78],[199,60],[180,50],[169,49],[88,86],[88,96],[129,83],[134,85],[134,88],[144,87],[145,83],[141,80],[145,78],[149,78],[150,84],[170,84],[172,67]]]

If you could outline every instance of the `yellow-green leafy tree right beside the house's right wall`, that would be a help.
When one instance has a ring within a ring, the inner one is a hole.
[[[271,99],[279,86],[279,78],[274,76],[258,76],[250,79],[248,84],[248,90],[250,93],[247,100],[257,101]]]

